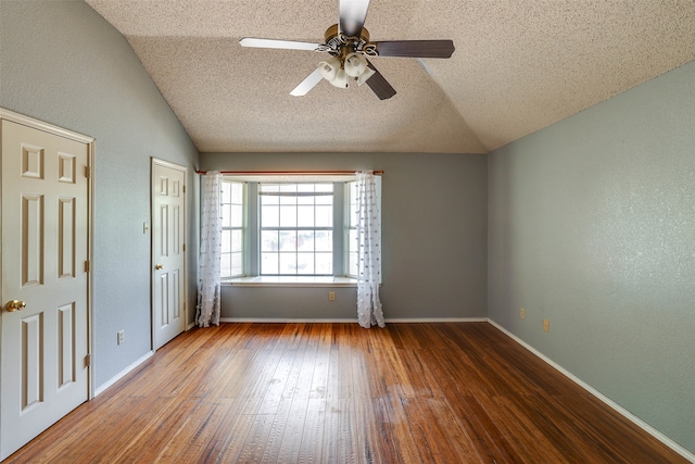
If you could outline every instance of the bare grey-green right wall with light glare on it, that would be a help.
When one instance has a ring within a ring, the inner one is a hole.
[[[695,451],[695,62],[488,166],[490,318]]]

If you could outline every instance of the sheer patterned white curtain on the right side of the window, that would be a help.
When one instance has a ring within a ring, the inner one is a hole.
[[[381,281],[381,223],[377,183],[371,171],[357,172],[357,322],[386,327],[379,300]]]

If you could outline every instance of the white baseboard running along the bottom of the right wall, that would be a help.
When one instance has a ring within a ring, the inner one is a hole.
[[[685,448],[681,447],[675,441],[671,440],[669,437],[667,437],[666,435],[664,435],[662,432],[660,432],[656,428],[652,427],[649,424],[647,424],[646,422],[642,421],[640,417],[635,416],[630,411],[626,410],[620,404],[618,404],[615,401],[612,401],[610,398],[608,398],[605,394],[603,394],[601,391],[596,390],[595,388],[593,388],[592,386],[590,386],[589,384],[586,384],[585,381],[583,381],[582,379],[580,379],[579,377],[577,377],[576,375],[573,375],[572,373],[570,373],[569,371],[567,371],[566,368],[560,366],[559,364],[555,363],[553,360],[547,358],[545,354],[541,353],[535,348],[531,347],[526,341],[521,340],[519,337],[517,337],[516,335],[511,334],[506,328],[502,327],[500,324],[495,323],[492,319],[488,319],[488,322],[490,324],[492,324],[493,326],[495,326],[497,329],[500,329],[502,333],[504,333],[507,337],[511,338],[514,341],[516,341],[517,343],[519,343],[520,346],[522,346],[523,348],[529,350],[531,353],[535,354],[542,361],[544,361],[545,363],[547,363],[548,365],[554,367],[556,371],[558,371],[565,377],[569,378],[574,384],[579,385],[584,390],[586,390],[587,392],[590,392],[591,394],[593,394],[594,397],[596,397],[597,399],[599,399],[601,401],[606,403],[608,406],[610,406],[611,409],[614,409],[615,411],[617,411],[618,413],[623,415],[627,419],[632,422],[634,425],[636,425],[637,427],[642,428],[644,431],[646,431],[647,434],[649,434],[650,436],[653,436],[654,438],[656,438],[657,440],[659,440],[660,442],[662,442],[664,444],[666,444],[667,447],[669,447],[670,449],[672,449],[673,451],[675,451],[677,453],[679,453],[680,455],[682,455],[683,457],[688,460],[690,462],[695,463],[695,454],[691,453],[688,450],[686,450]]]

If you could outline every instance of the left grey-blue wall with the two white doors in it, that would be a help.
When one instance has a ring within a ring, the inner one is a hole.
[[[150,159],[188,166],[189,191],[197,192],[199,154],[126,39],[81,0],[2,0],[0,43],[1,106],[96,138],[92,324],[100,387],[151,348],[150,236],[142,231]],[[197,217],[195,195],[188,206]],[[194,303],[189,286],[193,312]],[[121,329],[126,342],[117,346]]]

